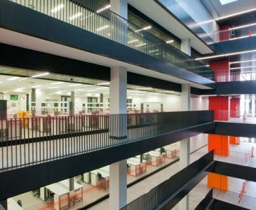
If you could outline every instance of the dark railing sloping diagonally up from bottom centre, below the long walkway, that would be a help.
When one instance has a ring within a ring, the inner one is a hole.
[[[161,207],[163,202],[166,202],[170,196],[173,196],[172,204],[170,204],[172,207],[168,206],[169,209],[172,209],[177,202],[179,202],[179,200],[175,198],[175,195],[180,193],[180,190],[182,190],[182,187],[184,187],[188,181],[191,181],[195,176],[202,174],[202,172],[210,166],[212,161],[213,151],[210,151],[210,153],[207,153],[191,163],[191,165],[185,167],[182,171],[177,172],[177,174],[171,176],[166,181],[163,181],[136,200],[133,200],[133,202],[130,202],[126,207],[121,208],[121,210],[153,210],[156,209],[156,207]],[[203,173],[203,176],[206,176],[206,173]],[[201,178],[203,179],[203,177]],[[180,193],[180,196],[182,195],[184,195],[184,193]]]

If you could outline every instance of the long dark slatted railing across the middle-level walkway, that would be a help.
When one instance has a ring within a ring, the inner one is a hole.
[[[66,158],[213,122],[213,111],[0,119],[0,170]]]

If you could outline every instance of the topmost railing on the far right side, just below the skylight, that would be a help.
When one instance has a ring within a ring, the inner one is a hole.
[[[240,38],[247,38],[250,36],[256,36],[256,23],[215,31],[213,33],[213,40],[215,43],[218,43],[223,41],[233,41]]]

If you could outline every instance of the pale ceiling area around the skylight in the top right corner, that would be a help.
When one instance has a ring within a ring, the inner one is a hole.
[[[234,13],[241,13],[245,10],[252,10],[256,8],[255,0],[238,0],[222,5],[220,0],[201,0],[206,8],[209,10],[213,18],[222,18]]]

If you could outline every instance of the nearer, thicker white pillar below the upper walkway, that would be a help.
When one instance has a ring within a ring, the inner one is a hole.
[[[110,114],[127,113],[127,69],[121,66],[112,67],[109,85]],[[110,119],[112,116],[110,116]],[[122,118],[126,122],[126,118]],[[118,120],[120,122],[121,119]],[[116,122],[116,121],[115,121]],[[111,123],[109,125],[112,125]],[[127,139],[127,126],[115,125],[117,132],[112,133],[110,141]],[[127,161],[121,160],[109,166],[109,209],[119,210],[127,204]]]

